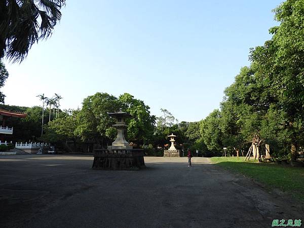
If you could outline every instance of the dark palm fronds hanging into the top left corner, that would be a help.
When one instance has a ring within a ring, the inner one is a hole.
[[[22,61],[39,40],[47,39],[65,0],[0,1],[0,59]]]

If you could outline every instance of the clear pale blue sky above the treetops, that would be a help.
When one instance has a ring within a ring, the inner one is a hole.
[[[57,93],[63,108],[77,108],[96,92],[127,92],[153,115],[166,108],[200,121],[249,65],[249,48],[270,39],[281,2],[67,1],[47,41],[21,64],[5,61],[5,103],[40,105],[36,95]]]

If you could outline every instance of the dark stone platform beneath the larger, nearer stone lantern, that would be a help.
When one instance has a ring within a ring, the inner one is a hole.
[[[92,169],[139,170],[144,167],[143,149],[94,149]]]

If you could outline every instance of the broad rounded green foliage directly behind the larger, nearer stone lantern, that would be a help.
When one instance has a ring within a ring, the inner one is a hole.
[[[116,129],[112,127],[116,120],[110,118],[108,113],[119,110],[127,111],[132,116],[126,121],[127,140],[138,145],[149,143],[152,140],[155,117],[150,115],[149,106],[128,93],[119,98],[107,93],[96,93],[85,98],[77,115],[75,134],[83,141],[100,142],[103,147],[111,144],[117,134]]]

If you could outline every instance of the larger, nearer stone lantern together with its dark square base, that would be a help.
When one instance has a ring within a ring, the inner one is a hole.
[[[107,149],[94,149],[92,169],[138,170],[145,167],[143,149],[133,149],[125,139],[128,127],[125,120],[132,116],[124,111],[108,113],[108,115],[116,118],[116,123],[112,126],[117,129],[117,136]]]

